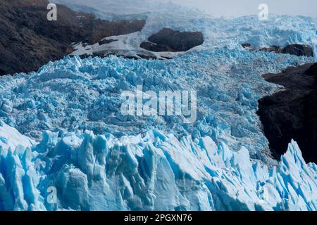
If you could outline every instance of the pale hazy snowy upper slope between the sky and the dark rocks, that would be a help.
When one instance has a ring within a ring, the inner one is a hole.
[[[230,46],[241,48],[241,44],[249,43],[255,47],[286,46],[287,44],[309,44],[316,52],[317,18],[292,15],[272,15],[270,20],[261,21],[257,15],[241,18],[213,18],[194,8],[186,8],[167,1],[68,1],[59,0],[76,10],[84,10],[100,15],[100,18],[132,19],[146,18],[147,23],[141,32],[129,37],[125,46],[139,51],[139,45],[147,40],[151,34],[159,32],[164,27],[173,30],[199,31],[204,34],[201,49],[214,49]],[[87,8],[89,6],[89,8]],[[117,8],[117,10],[115,10]],[[115,12],[109,15],[109,12]],[[125,12],[125,13],[124,13]],[[125,15],[122,15],[125,14]],[[127,14],[130,17],[127,18]],[[111,17],[112,16],[112,17]],[[103,49],[107,49],[107,45]],[[111,45],[109,45],[111,49]],[[191,52],[190,51],[190,52]],[[89,53],[89,51],[87,52]]]

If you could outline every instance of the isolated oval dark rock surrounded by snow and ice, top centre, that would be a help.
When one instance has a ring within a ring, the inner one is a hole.
[[[149,51],[188,51],[204,43],[201,32],[179,32],[163,28],[160,32],[151,35],[141,44],[142,49]]]

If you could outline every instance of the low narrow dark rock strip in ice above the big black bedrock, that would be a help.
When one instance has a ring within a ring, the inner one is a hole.
[[[294,56],[313,57],[313,48],[305,44],[289,44],[285,46],[284,48],[273,45],[273,46],[269,46],[268,48],[264,47],[261,49],[254,49],[251,47],[251,44],[245,43],[245,44],[242,44],[242,47],[244,49],[256,50],[256,51],[268,51],[268,52],[275,52],[275,53],[282,53],[282,54],[290,54]]]

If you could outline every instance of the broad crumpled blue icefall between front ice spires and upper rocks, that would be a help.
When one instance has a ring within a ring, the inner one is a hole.
[[[1,77],[0,117],[36,141],[46,130],[59,136],[78,129],[124,136],[158,129],[178,138],[208,135],[232,150],[244,146],[251,158],[268,161],[270,150],[256,115],[257,101],[280,87],[261,75],[313,60],[226,47],[173,60],[66,57],[37,72]],[[144,91],[197,91],[197,121],[123,116],[120,94],[135,91],[137,85]]]

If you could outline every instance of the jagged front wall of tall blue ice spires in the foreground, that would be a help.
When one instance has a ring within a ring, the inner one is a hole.
[[[94,135],[30,139],[1,122],[0,210],[316,210],[317,167],[292,141],[278,165],[252,162],[209,136]],[[47,202],[49,187],[58,201]]]

